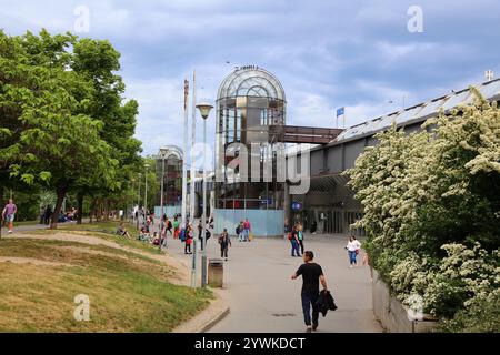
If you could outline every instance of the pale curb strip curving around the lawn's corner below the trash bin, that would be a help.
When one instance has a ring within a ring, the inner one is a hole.
[[[222,291],[213,288],[211,291],[216,298],[210,302],[210,305],[184,324],[176,327],[172,333],[204,333],[229,314],[229,302],[222,296]]]

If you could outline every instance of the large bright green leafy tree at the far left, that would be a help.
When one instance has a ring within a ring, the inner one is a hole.
[[[102,112],[96,109],[103,100],[96,82],[103,77],[84,72],[76,48],[80,48],[79,41],[71,34],[52,37],[44,30],[39,36],[0,33],[1,178],[17,176],[27,184],[53,189],[58,199],[52,227],[69,191],[119,189],[118,166],[123,156],[139,160],[140,144],[129,132],[122,135],[128,140],[122,143],[114,139],[117,131],[106,131],[112,125],[101,114],[107,108]],[[119,102],[122,84],[111,85]],[[132,121],[129,131],[133,134],[137,103],[118,103],[116,113],[114,118]],[[127,153],[120,151],[122,146],[129,149]]]

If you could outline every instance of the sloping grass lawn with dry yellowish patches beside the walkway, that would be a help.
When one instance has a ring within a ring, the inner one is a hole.
[[[57,264],[0,262],[0,332],[170,332],[211,298],[169,283],[167,264],[103,245],[2,239],[2,257]],[[88,322],[73,317],[79,294]]]

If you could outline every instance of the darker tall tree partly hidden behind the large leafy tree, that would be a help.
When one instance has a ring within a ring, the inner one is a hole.
[[[99,196],[106,195],[113,201],[122,200],[120,195],[127,195],[127,185],[142,163],[139,156],[141,142],[133,138],[138,103],[134,100],[122,103],[124,84],[122,78],[116,74],[120,69],[119,59],[120,53],[108,41],[81,39],[74,43],[71,68],[93,87],[87,113],[103,123],[100,135],[110,145],[111,154],[120,166],[112,189],[100,180],[89,180],[87,176],[77,183],[80,211],[89,192],[93,204]]]

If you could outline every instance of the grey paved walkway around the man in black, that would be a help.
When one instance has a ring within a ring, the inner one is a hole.
[[[169,252],[189,262],[180,241],[169,239]],[[322,266],[329,290],[339,310],[320,315],[319,332],[382,332],[371,310],[371,282],[366,266],[349,268],[341,237],[308,236],[306,248],[312,250]],[[209,257],[219,257],[217,240],[208,243]],[[257,239],[250,243],[232,240],[224,264],[224,288],[230,314],[210,332],[303,332],[301,280],[290,276],[302,263],[291,257],[288,240]],[[361,262],[360,262],[361,264]]]

